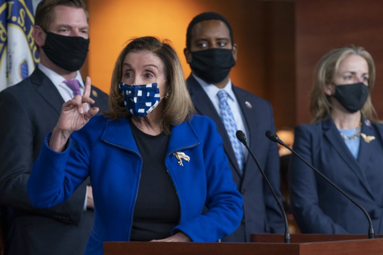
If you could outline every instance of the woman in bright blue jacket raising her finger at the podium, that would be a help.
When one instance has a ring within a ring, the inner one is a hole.
[[[104,241],[214,242],[242,219],[242,197],[216,126],[194,116],[175,50],[132,40],[112,75],[110,110],[83,96],[62,107],[28,183],[32,204],[52,207],[91,177],[94,225],[86,254]],[[202,213],[204,206],[208,211]]]

